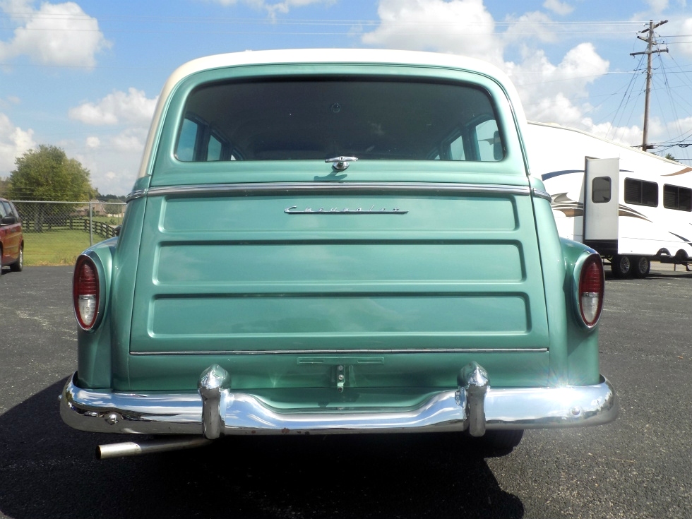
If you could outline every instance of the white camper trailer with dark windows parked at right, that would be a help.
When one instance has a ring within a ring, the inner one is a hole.
[[[531,174],[544,182],[562,237],[644,278],[650,261],[692,257],[692,167],[584,131],[530,122]]]

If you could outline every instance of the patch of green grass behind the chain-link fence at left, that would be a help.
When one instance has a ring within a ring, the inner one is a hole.
[[[102,239],[94,234],[94,243]],[[89,233],[84,231],[25,232],[24,265],[73,265],[88,247]]]

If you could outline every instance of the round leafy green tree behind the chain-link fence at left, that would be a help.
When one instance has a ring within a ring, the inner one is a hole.
[[[87,201],[95,194],[89,170],[78,160],[68,158],[56,146],[40,145],[15,159],[17,168],[10,174],[8,198],[37,202]],[[71,211],[74,205],[46,203],[24,204],[23,217],[34,222],[35,232],[42,232],[45,218],[59,211]]]

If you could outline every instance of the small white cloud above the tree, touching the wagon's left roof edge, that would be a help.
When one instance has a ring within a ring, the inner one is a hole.
[[[128,91],[114,90],[93,103],[85,102],[71,108],[69,117],[93,126],[133,124],[148,126],[154,113],[157,97],[148,99],[143,90],[129,88]]]

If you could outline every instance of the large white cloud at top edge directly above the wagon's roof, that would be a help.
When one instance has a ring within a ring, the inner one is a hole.
[[[482,0],[381,0],[380,25],[365,44],[436,50],[501,62],[502,42]]]

